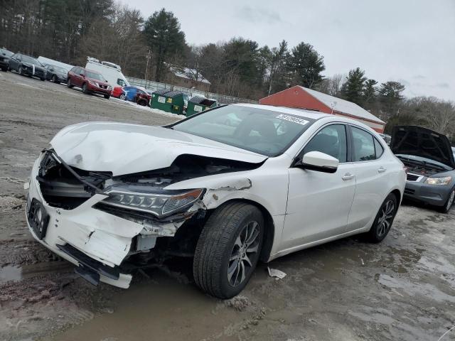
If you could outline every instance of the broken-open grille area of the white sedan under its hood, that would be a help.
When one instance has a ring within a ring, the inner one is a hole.
[[[53,153],[46,152],[36,179],[48,205],[73,210],[95,194],[94,188],[87,183],[102,189],[110,176],[108,172],[82,171],[64,165]]]

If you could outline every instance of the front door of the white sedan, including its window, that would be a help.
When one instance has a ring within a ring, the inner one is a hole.
[[[320,129],[300,156],[321,151],[340,164],[336,173],[289,168],[289,194],[284,218],[282,249],[299,249],[304,244],[346,231],[355,193],[355,166],[349,161],[347,128],[330,124]]]

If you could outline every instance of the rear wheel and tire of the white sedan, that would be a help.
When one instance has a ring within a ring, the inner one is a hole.
[[[397,197],[390,193],[382,202],[378,214],[373,221],[370,231],[367,232],[368,241],[372,243],[382,242],[392,227],[395,215],[397,215]]]

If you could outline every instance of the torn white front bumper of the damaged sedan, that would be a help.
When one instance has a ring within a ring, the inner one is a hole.
[[[55,203],[45,200],[39,181],[43,183],[39,170],[46,153],[36,160],[31,172],[26,213],[28,228],[38,242],[75,264],[77,274],[90,283],[102,281],[128,288],[132,275],[122,269],[122,262],[132,254],[153,249],[157,237],[173,237],[177,229],[198,212],[195,204],[174,219],[167,217],[163,222],[140,217],[125,219],[103,209],[100,202],[108,195],[83,183],[85,190],[92,191],[90,197],[71,209],[55,207]],[[73,183],[67,186],[73,195],[78,195]]]

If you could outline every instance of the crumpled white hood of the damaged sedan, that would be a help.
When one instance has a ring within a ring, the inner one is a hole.
[[[50,141],[68,165],[124,175],[166,168],[191,154],[260,163],[267,156],[161,126],[85,122],[67,126]]]

